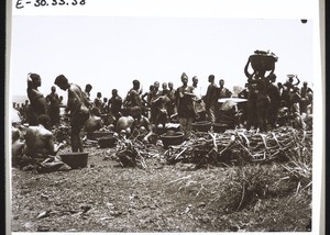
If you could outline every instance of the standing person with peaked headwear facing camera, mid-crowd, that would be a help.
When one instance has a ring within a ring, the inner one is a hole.
[[[191,135],[193,121],[195,119],[194,110],[194,88],[188,86],[188,76],[183,72],[183,86],[176,90],[177,114],[180,123],[180,128],[185,134],[185,139],[189,139]]]

